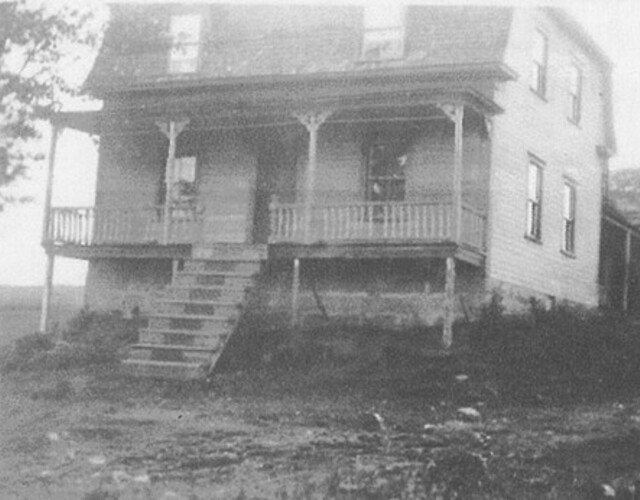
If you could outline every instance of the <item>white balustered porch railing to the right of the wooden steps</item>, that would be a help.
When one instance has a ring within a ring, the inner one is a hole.
[[[306,241],[302,204],[274,203],[270,215],[271,243]],[[450,202],[359,202],[314,206],[309,242],[453,241],[452,219]],[[485,226],[486,216],[464,205],[460,243],[483,250]]]

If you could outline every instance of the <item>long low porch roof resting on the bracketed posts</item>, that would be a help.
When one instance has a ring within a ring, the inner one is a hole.
[[[276,95],[262,93],[262,102],[256,102],[251,92],[220,97],[209,94],[185,96],[184,100],[160,101],[155,105],[142,103],[134,107],[118,107],[85,112],[59,112],[52,122],[59,127],[68,127],[90,134],[118,135],[150,133],[157,129],[157,121],[188,118],[194,122],[192,130],[215,130],[228,128],[258,128],[265,126],[296,125],[296,113],[313,110],[331,110],[333,115],[327,123],[349,123],[357,121],[429,120],[438,113],[438,105],[461,103],[484,115],[494,115],[503,110],[492,99],[474,89],[458,90],[409,90],[389,93],[368,92],[365,95],[316,97],[306,101],[297,98],[282,101]],[[206,102],[206,104],[204,104]],[[311,103],[311,104],[310,104]]]

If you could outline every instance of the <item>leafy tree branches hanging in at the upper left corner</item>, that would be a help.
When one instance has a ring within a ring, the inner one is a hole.
[[[41,159],[29,147],[39,124],[77,95],[76,68],[101,31],[90,4],[0,1],[0,210],[13,200],[8,186]]]

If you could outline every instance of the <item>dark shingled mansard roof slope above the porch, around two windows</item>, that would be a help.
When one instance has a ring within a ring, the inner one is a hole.
[[[171,75],[168,20],[186,8],[205,19],[201,69]],[[502,64],[512,17],[505,7],[409,6],[405,57],[363,61],[362,6],[117,4],[111,9],[112,21],[86,84],[97,95],[270,76],[440,67],[449,73],[457,67],[482,72]]]

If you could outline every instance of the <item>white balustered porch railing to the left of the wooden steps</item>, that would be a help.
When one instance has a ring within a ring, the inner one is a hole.
[[[171,207],[164,224],[164,207],[51,209],[45,243],[73,245],[193,243],[201,216],[193,206]],[[166,231],[166,234],[165,234]]]

